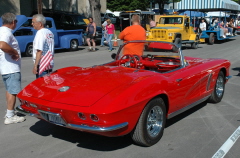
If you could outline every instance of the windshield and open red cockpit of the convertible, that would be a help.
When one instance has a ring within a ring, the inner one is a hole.
[[[169,42],[130,41],[119,48],[112,66],[172,72],[187,65],[182,52]]]

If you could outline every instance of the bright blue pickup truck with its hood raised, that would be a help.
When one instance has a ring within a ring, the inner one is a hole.
[[[32,27],[32,17],[17,15],[17,27],[13,30],[20,51],[25,56],[32,56],[33,40],[37,30]],[[0,24],[2,25],[2,23]],[[77,50],[82,45],[82,29],[78,30],[58,30],[52,18],[46,17],[46,27],[54,34],[55,49]]]

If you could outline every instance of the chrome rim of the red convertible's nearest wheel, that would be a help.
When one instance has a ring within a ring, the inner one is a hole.
[[[148,113],[147,132],[151,137],[156,137],[163,125],[163,111],[159,106],[154,106]]]

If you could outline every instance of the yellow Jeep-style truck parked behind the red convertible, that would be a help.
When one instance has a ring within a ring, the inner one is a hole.
[[[147,31],[147,40],[172,42],[179,47],[190,44],[198,48],[199,35],[190,25],[190,18],[185,15],[162,15],[157,26]]]

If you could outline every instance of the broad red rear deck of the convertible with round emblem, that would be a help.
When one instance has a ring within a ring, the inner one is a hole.
[[[25,87],[18,97],[38,99],[78,105],[91,106],[109,92],[129,84],[141,77],[136,69],[124,67],[96,66],[93,68],[74,68],[59,70],[50,76],[39,78]],[[69,88],[60,92],[60,89]]]

